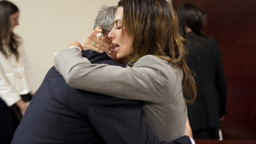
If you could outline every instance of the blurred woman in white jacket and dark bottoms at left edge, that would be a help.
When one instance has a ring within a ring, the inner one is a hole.
[[[22,41],[13,29],[19,24],[19,10],[0,1],[0,144],[10,144],[14,131],[36,91]]]

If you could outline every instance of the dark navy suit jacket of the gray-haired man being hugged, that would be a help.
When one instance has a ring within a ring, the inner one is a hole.
[[[83,54],[92,63],[122,66],[106,54]],[[52,67],[34,94],[12,144],[55,143],[160,144],[146,123],[140,101],[73,89]],[[191,141],[183,136],[170,144]]]

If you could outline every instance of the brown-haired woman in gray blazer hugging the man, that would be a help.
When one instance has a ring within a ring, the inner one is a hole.
[[[72,87],[144,101],[149,126],[170,142],[184,135],[186,102],[196,95],[176,13],[166,0],[121,0],[118,6],[109,38],[116,57],[128,59],[127,68],[91,64],[77,48],[57,54],[55,67]]]

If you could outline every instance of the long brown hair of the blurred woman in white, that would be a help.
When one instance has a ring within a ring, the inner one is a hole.
[[[18,45],[20,38],[10,31],[10,15],[18,12],[18,8],[7,0],[0,1],[0,52],[7,58],[7,52],[3,49],[3,40],[8,45],[9,52],[13,53],[18,60]]]

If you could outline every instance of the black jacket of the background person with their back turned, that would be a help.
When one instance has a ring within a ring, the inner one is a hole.
[[[196,76],[197,97],[188,106],[192,130],[220,127],[225,115],[226,83],[219,47],[215,40],[189,33],[187,64]]]

